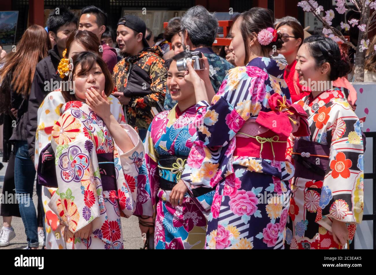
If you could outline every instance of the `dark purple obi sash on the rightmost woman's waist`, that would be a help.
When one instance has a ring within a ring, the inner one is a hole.
[[[295,166],[294,177],[311,180],[324,180],[326,171],[329,167],[329,145],[306,141],[300,138],[294,142],[293,152],[298,153],[293,153],[292,156]]]

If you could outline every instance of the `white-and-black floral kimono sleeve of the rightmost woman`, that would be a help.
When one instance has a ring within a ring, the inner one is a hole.
[[[321,107],[321,108],[325,108]],[[328,110],[330,109],[330,110]],[[316,222],[328,228],[332,219],[360,223],[363,215],[363,140],[361,125],[342,98],[326,107],[329,168],[320,195]],[[320,110],[319,110],[320,112]],[[317,127],[321,119],[314,117]]]

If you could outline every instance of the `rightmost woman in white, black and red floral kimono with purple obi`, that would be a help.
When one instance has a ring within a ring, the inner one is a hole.
[[[311,83],[311,94],[298,101],[311,135],[293,138],[287,247],[341,249],[362,221],[365,139],[344,93],[318,83],[346,76],[350,66],[336,42],[313,35],[299,49],[296,70],[302,84]]]

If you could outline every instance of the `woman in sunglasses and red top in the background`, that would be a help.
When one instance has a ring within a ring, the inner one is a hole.
[[[285,68],[284,79],[290,90],[291,101],[294,103],[309,95],[309,91],[299,84],[298,74],[295,70],[296,54],[303,43],[304,30],[295,21],[284,21],[277,26],[277,31],[281,32],[284,42],[278,53],[283,54],[288,63]]]

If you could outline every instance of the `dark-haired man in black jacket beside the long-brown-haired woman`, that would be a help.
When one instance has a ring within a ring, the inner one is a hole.
[[[49,50],[47,57],[39,61],[35,68],[33,83],[31,86],[27,119],[27,143],[29,144],[29,157],[34,161],[35,132],[38,127],[38,108],[45,96],[59,88],[61,80],[56,73],[62,53],[66,47],[66,41],[70,33],[77,29],[77,17],[69,9],[59,7],[59,14],[55,10],[47,19],[47,27],[50,38],[55,40],[56,45]]]

